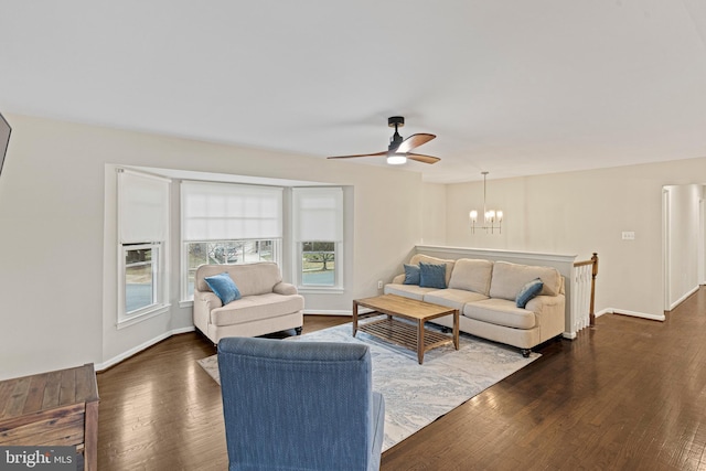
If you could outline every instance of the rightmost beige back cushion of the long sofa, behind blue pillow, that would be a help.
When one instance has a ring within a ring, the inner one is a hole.
[[[495,261],[490,282],[490,297],[514,301],[522,288],[535,278],[539,278],[544,283],[539,295],[559,295],[561,274],[556,268]]]

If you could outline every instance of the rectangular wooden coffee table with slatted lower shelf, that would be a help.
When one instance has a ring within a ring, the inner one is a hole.
[[[357,308],[372,309],[370,314],[387,314],[386,319],[367,322],[359,325]],[[453,335],[445,335],[424,328],[424,323],[443,315],[453,315]],[[395,318],[406,319],[410,322],[399,321]],[[396,295],[383,295],[374,298],[353,300],[353,336],[359,329],[362,332],[387,340],[398,345],[417,351],[419,364],[424,362],[424,352],[437,346],[453,343],[459,350],[459,310],[446,306],[431,304],[404,298]]]

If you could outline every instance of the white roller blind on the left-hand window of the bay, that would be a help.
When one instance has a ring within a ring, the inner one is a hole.
[[[158,176],[118,171],[118,227],[121,244],[167,240],[169,184]]]

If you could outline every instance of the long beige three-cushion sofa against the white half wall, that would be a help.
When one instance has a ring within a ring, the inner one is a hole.
[[[447,288],[405,285],[405,275],[398,275],[385,286],[385,293],[456,308],[462,332],[516,346],[525,356],[564,332],[564,277],[555,268],[469,258],[445,260],[422,254],[414,255],[408,265],[420,261],[445,264]],[[536,278],[543,282],[542,291],[518,308],[517,295]],[[451,315],[434,322],[453,327]]]

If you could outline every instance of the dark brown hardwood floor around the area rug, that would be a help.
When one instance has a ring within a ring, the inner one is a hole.
[[[304,333],[347,318],[308,315]],[[706,289],[666,322],[608,314],[383,454],[389,470],[706,470]],[[225,470],[196,333],[98,374],[100,470]],[[520,354],[520,353],[517,353]]]

